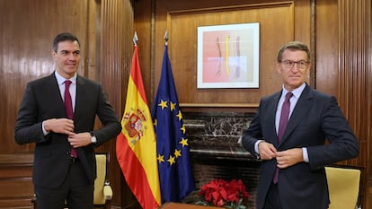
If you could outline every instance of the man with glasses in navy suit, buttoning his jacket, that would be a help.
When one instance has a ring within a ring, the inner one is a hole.
[[[244,148],[262,160],[256,205],[258,209],[326,209],[330,201],[323,166],[357,157],[359,144],[337,100],[305,82],[310,70],[307,46],[289,42],[279,50],[277,61],[282,90],[261,99],[242,139]],[[283,123],[282,107],[289,112]],[[282,136],[277,135],[280,129]],[[325,139],[329,143],[324,144]]]

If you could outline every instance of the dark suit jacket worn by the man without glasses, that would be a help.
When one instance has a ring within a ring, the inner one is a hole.
[[[114,138],[120,133],[121,125],[102,86],[77,75],[73,118],[75,133],[91,132],[96,115],[103,125],[94,131],[97,144],[76,149],[86,178],[91,183],[96,178],[93,145],[98,146]],[[53,132],[43,135],[41,123],[49,118],[67,118],[54,73],[27,84],[14,128],[17,144],[36,143],[33,183],[40,187],[60,186],[70,164],[71,146],[67,142],[67,135]]]

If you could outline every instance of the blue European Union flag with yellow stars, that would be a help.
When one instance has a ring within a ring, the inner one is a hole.
[[[162,74],[152,109],[162,203],[181,202],[195,189],[190,149],[174,86],[168,46],[164,48]]]

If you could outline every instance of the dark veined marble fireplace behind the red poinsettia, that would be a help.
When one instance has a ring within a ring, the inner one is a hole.
[[[199,187],[212,179],[242,179],[251,195],[247,208],[255,208],[255,191],[261,163],[240,145],[242,132],[254,114],[183,112],[182,115],[197,187],[184,202],[195,203]]]

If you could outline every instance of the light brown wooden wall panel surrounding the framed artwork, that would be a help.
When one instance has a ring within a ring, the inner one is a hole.
[[[154,87],[157,88],[160,78],[164,31],[169,30],[169,57],[183,108],[257,107],[262,95],[278,91],[281,86],[275,72],[281,45],[297,39],[311,46],[310,1],[261,1],[260,4],[244,1],[244,4],[232,2],[229,6],[218,4],[206,8],[195,8],[196,4],[189,1],[188,4],[179,1],[168,4],[161,0],[156,3],[155,45],[152,48],[155,51]],[[260,88],[197,89],[198,26],[249,22],[260,22]]]

